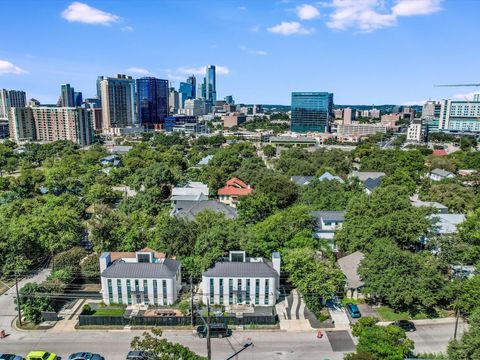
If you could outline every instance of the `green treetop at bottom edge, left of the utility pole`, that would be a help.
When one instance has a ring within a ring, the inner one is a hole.
[[[204,360],[206,358],[197,355],[189,348],[162,339],[162,330],[153,328],[151,333],[144,332],[143,337],[135,336],[130,344],[134,350],[148,351],[155,360]]]

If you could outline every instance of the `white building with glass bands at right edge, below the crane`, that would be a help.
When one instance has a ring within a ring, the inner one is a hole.
[[[480,131],[480,101],[442,100],[440,130]]]

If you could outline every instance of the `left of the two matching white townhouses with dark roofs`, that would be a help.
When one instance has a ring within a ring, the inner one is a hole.
[[[100,278],[107,305],[171,305],[181,289],[181,264],[148,248],[104,252],[100,256]]]

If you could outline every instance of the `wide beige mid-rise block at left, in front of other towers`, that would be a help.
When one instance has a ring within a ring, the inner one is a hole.
[[[12,108],[9,125],[10,138],[16,142],[70,140],[82,146],[93,142],[91,117],[84,108]]]

